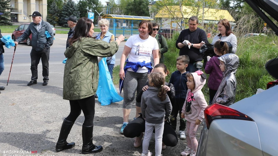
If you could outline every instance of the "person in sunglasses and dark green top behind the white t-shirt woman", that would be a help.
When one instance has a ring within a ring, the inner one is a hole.
[[[158,33],[158,24],[157,23],[152,23],[152,29],[153,29],[153,33],[151,34],[151,37],[155,38],[158,42],[158,47],[159,47],[159,63],[164,63],[164,56],[163,54],[165,52],[168,51],[168,45],[167,45],[167,41],[165,39],[164,36],[162,36],[161,34],[157,34]],[[153,63],[153,58],[152,59],[152,63]]]

